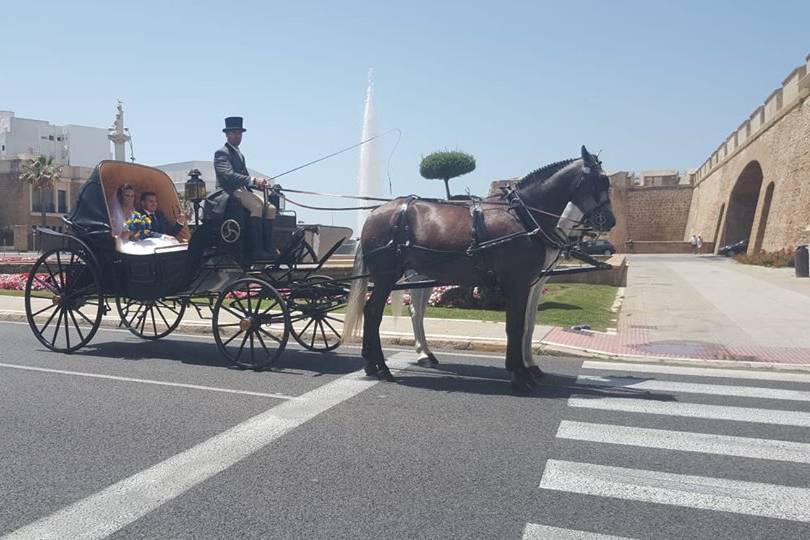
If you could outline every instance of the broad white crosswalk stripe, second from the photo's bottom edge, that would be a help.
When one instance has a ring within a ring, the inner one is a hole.
[[[810,489],[550,459],[540,488],[810,522]]]

